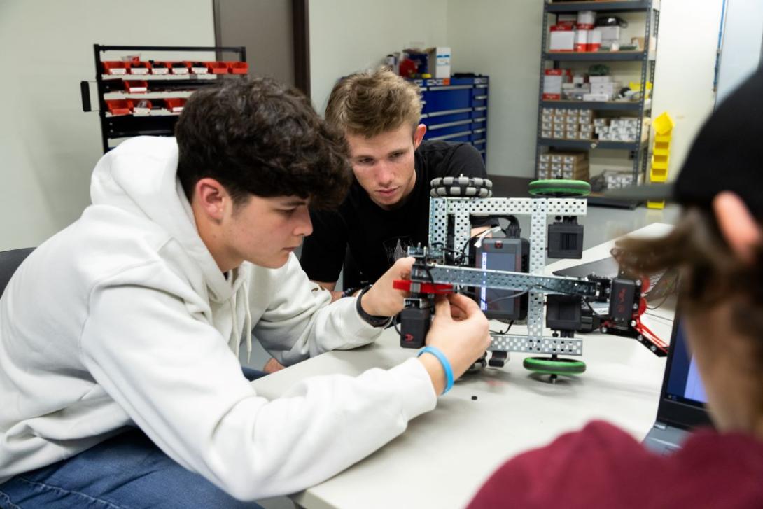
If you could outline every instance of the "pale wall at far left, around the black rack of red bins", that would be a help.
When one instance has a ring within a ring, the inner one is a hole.
[[[94,43],[214,46],[212,2],[0,0],[0,250],[37,246],[89,205],[101,135],[79,81],[95,78]]]

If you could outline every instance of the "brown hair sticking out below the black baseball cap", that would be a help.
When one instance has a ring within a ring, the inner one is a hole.
[[[688,207],[667,236],[625,237],[613,255],[626,272],[636,275],[677,267],[684,314],[702,314],[721,301],[731,301],[736,331],[763,339],[763,247],[757,246],[755,263],[740,263],[711,210]],[[763,343],[760,347],[763,354]]]

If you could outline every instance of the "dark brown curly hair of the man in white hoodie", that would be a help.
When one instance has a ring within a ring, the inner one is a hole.
[[[352,182],[343,134],[297,89],[269,78],[231,79],[194,92],[175,125],[178,177],[191,200],[211,177],[238,206],[250,195],[310,198],[335,208]]]

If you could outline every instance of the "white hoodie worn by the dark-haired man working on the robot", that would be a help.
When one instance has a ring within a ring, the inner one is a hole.
[[[250,330],[285,365],[369,343],[355,299],[330,304],[291,255],[224,275],[176,179],[174,138],[105,155],[93,205],[21,265],[0,299],[0,483],[140,427],[233,497],[300,491],[430,411],[416,359],[304,380],[267,401],[241,374]],[[253,330],[251,326],[253,325]]]

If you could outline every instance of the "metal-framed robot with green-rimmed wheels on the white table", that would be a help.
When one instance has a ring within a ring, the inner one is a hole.
[[[585,363],[569,358],[583,354],[575,332],[592,330],[633,337],[655,355],[667,355],[667,345],[641,323],[646,305],[639,279],[622,272],[615,278],[543,275],[546,254],[582,256],[583,226],[577,218],[586,214],[588,182],[531,182],[535,198],[491,198],[488,179],[446,177],[431,184],[429,244],[409,248],[416,259],[410,279],[394,282],[410,292],[396,318],[401,346],[422,347],[436,295],[460,292],[474,298],[488,318],[509,324],[502,333],[491,332],[491,358],[481,359],[482,367],[504,366],[509,352],[536,353],[523,366],[549,375],[551,382],[559,375],[579,375]],[[509,226],[471,237],[475,216],[504,217]],[[517,216],[530,216],[529,239],[521,236]],[[488,237],[499,231],[506,237]],[[509,333],[514,321],[523,320],[526,335]],[[544,325],[551,336],[544,335]]]

